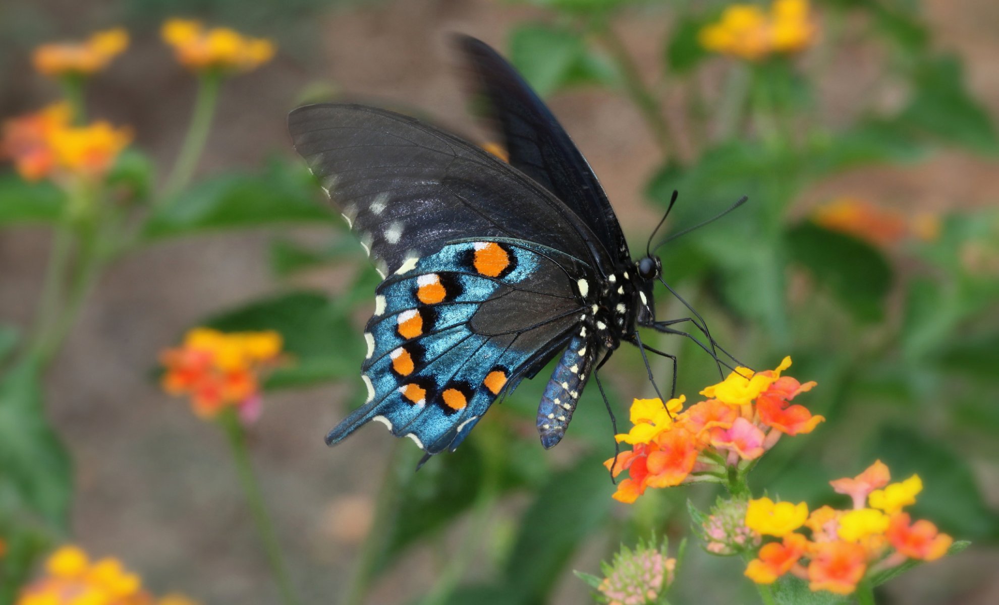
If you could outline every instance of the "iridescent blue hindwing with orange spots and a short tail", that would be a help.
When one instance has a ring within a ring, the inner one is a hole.
[[[504,390],[578,330],[592,270],[553,249],[465,241],[378,288],[362,366],[368,400],[327,441],[370,420],[428,453],[454,449]]]

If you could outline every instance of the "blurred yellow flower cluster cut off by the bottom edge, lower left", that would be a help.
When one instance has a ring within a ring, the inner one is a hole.
[[[45,563],[45,575],[22,589],[16,605],[196,605],[182,595],[155,598],[142,578],[113,557],[91,560],[63,546]]]

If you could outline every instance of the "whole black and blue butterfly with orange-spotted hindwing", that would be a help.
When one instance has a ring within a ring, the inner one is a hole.
[[[508,163],[374,107],[289,115],[296,150],[383,279],[364,331],[367,401],[330,431],[331,445],[375,420],[425,460],[454,451],[500,395],[559,355],[537,407],[549,448],[621,341],[671,357],[675,388],[675,357],[642,344],[638,327],[689,336],[671,326],[690,321],[713,348],[692,318],[656,321],[660,259],[632,261],[596,176],[523,78],[475,38],[457,48]]]

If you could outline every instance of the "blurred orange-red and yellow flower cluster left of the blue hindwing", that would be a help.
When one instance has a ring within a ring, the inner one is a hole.
[[[261,378],[280,361],[282,337],[276,331],[225,333],[208,327],[190,330],[183,343],[161,355],[164,390],[189,395],[202,418],[235,408],[244,423],[261,413]]]

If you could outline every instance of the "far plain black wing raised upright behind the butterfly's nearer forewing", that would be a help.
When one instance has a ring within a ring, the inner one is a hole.
[[[530,86],[486,43],[457,37],[475,92],[487,101],[509,163],[565,203],[619,261],[630,259],[610,202],[586,159]]]

